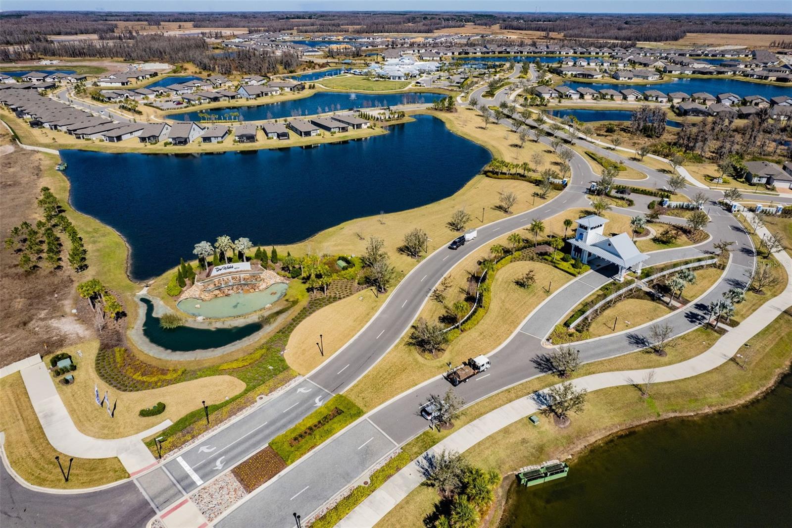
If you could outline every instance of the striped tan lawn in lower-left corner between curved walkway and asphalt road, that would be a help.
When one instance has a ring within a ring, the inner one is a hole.
[[[63,482],[55,456],[65,464],[63,469],[68,469],[70,457],[56,451],[48,442],[20,373],[0,379],[0,408],[6,455],[13,470],[30,484],[58,489],[93,488],[129,476],[118,458],[75,458],[69,482]]]

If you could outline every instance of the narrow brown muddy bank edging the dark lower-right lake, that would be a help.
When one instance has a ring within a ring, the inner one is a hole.
[[[588,441],[586,438],[583,438],[581,442],[576,442],[571,446],[571,452],[562,460],[572,462],[577,461],[577,459],[584,457],[597,447],[603,446],[607,442],[611,442],[643,427],[653,426],[671,420],[705,419],[711,415],[724,414],[735,411],[739,407],[746,407],[748,405],[756,404],[767,397],[767,394],[775,390],[783,377],[786,377],[790,374],[792,374],[792,354],[786,358],[786,362],[784,362],[781,367],[775,369],[767,384],[763,385],[763,387],[757,389],[756,391],[741,397],[738,400],[730,402],[729,404],[722,404],[715,407],[704,407],[699,411],[674,412],[669,413],[668,415],[659,416],[655,419],[642,419],[624,423],[621,427],[606,431],[600,435],[597,435],[596,432],[592,433],[591,436],[595,436],[596,438],[592,438]],[[494,513],[488,515],[488,518],[482,522],[482,528],[498,528],[498,526],[500,526],[503,514],[506,511],[506,507],[508,507],[508,490],[511,488],[512,484],[515,484],[516,482],[509,477],[516,475],[516,473],[517,471],[515,470],[502,476],[501,484],[498,485],[495,492],[495,499],[493,501],[493,507],[491,510],[494,511]],[[494,524],[493,521],[495,522]]]

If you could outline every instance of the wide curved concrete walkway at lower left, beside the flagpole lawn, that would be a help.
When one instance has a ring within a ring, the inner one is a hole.
[[[20,373],[44,434],[56,450],[80,458],[119,457],[130,475],[155,463],[154,456],[143,445],[143,438],[168,427],[170,420],[126,438],[93,438],[82,434],[74,425],[44,362],[27,366]],[[86,394],[86,398],[90,397]]]

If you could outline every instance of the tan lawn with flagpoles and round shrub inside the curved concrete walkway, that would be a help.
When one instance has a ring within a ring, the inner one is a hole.
[[[82,358],[78,357],[77,350],[82,350]],[[95,369],[98,350],[99,342],[96,340],[59,350],[69,353],[78,368],[74,371],[74,384],[62,385],[55,382],[74,425],[82,433],[94,438],[122,438],[154,427],[166,419],[176,422],[188,412],[200,409],[201,400],[206,400],[209,405],[217,404],[245,388],[242,381],[231,376],[202,377],[178,385],[138,392],[119,392],[109,388],[110,400],[113,403],[117,400],[118,403],[116,415],[110,419],[107,411],[91,398],[94,386],[99,387],[101,394],[108,388]],[[138,415],[141,409],[153,407],[158,402],[165,404],[162,414],[147,418]]]

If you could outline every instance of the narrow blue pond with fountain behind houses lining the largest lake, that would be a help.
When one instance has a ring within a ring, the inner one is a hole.
[[[380,106],[408,105],[412,103],[429,104],[441,99],[443,94],[421,92],[405,92],[403,94],[357,94],[348,92],[317,92],[307,98],[291,99],[265,103],[255,106],[232,106],[211,109],[213,115],[238,112],[245,121],[262,119],[280,119],[281,117],[313,116],[317,113],[333,112],[360,108],[377,108]],[[199,112],[173,113],[168,117],[181,121],[200,121]],[[201,111],[200,113],[203,113]]]

